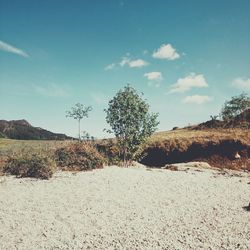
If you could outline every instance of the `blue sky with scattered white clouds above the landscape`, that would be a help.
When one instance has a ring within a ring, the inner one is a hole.
[[[250,93],[249,0],[0,0],[0,119],[108,137],[104,109],[130,84],[158,131],[210,119]]]

